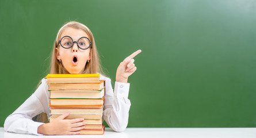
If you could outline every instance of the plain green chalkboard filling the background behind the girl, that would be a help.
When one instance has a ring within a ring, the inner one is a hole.
[[[48,73],[59,28],[94,34],[106,74],[137,49],[128,127],[256,127],[256,1],[0,1],[0,124]]]

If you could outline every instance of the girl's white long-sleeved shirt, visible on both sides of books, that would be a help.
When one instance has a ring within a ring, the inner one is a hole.
[[[114,131],[122,132],[127,127],[131,106],[128,99],[129,83],[115,82],[113,91],[109,78],[100,75],[100,79],[106,81],[103,118]],[[47,79],[42,79],[35,93],[6,118],[3,126],[5,131],[41,135],[37,133],[37,128],[44,123],[33,121],[32,118],[42,112],[50,117],[49,86],[46,81]]]

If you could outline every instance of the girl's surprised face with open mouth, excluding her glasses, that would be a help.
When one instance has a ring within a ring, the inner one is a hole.
[[[86,32],[81,29],[66,28],[60,39],[63,36],[70,36],[73,41],[78,41],[81,37],[88,37]],[[59,44],[60,45],[60,44]],[[62,46],[56,48],[56,57],[61,60],[62,66],[70,72],[70,74],[79,74],[85,70],[87,60],[90,60],[90,48],[80,49],[77,43],[74,43],[71,48],[65,49]]]

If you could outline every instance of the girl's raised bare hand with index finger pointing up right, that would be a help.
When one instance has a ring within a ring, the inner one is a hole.
[[[128,77],[132,75],[133,72],[135,72],[137,69],[135,67],[135,64],[134,64],[135,60],[133,59],[133,57],[138,55],[140,52],[142,52],[142,50],[138,50],[132,53],[132,55],[126,57],[124,61],[119,64],[119,67],[117,68],[117,71],[116,71],[117,82],[127,83]]]

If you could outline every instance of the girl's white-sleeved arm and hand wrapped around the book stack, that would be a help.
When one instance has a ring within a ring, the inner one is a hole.
[[[45,112],[49,114],[49,92],[46,79],[42,80],[41,85],[37,88],[26,101],[5,120],[4,129],[7,132],[28,133],[35,135],[74,135],[83,129],[81,122],[83,119],[64,120],[70,113],[63,114],[56,120],[44,124],[33,121],[32,118],[37,114]]]

